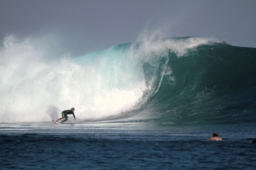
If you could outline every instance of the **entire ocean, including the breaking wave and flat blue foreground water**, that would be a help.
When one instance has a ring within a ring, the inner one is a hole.
[[[0,50],[1,169],[254,169],[256,49],[214,38]],[[76,108],[64,124],[52,120]],[[208,141],[218,132],[222,141]]]

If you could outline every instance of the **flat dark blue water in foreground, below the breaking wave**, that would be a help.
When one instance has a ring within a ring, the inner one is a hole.
[[[3,124],[1,169],[254,169],[256,127]],[[217,131],[223,141],[208,141]]]

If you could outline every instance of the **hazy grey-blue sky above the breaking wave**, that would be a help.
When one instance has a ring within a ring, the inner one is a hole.
[[[0,0],[0,47],[9,35],[52,36],[81,56],[158,32],[256,48],[255,9],[255,0]]]

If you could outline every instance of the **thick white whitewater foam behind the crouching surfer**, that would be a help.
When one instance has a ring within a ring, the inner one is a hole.
[[[85,66],[70,58],[44,62],[44,51],[29,39],[8,37],[0,54],[1,122],[48,121],[71,107],[80,119],[101,118],[131,108],[143,95],[143,74],[129,72],[133,67],[113,52]]]

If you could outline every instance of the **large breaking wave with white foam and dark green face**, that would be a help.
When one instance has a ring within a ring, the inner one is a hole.
[[[72,107],[80,120],[255,120],[255,52],[211,38],[165,38],[46,61],[31,40],[5,38],[0,121],[49,121]]]

